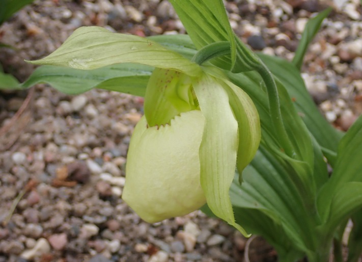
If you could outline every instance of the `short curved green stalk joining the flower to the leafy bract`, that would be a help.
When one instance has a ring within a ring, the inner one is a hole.
[[[192,62],[195,62],[199,65],[202,65],[204,62],[220,56],[230,55],[230,42],[220,41],[215,42],[201,48],[198,53],[196,53],[191,59]]]

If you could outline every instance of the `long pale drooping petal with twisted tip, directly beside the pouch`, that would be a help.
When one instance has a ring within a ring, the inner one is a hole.
[[[207,74],[195,78],[192,84],[206,119],[200,146],[200,177],[207,203],[216,216],[246,235],[235,223],[229,197],[238,150],[238,123],[228,93],[216,78]]]

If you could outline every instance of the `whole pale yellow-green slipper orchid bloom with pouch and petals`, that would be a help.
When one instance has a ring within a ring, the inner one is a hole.
[[[88,41],[92,39],[92,41]],[[77,69],[139,63],[156,69],[136,125],[122,198],[148,222],[182,216],[208,203],[235,223],[229,188],[260,141],[258,112],[215,67],[200,66],[151,40],[80,28],[54,53],[32,62]]]

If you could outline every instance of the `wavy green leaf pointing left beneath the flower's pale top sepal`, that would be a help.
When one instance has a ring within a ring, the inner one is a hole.
[[[93,70],[41,66],[21,87],[29,88],[38,83],[47,83],[66,94],[79,94],[100,88],[144,96],[152,71],[150,66],[128,63]]]

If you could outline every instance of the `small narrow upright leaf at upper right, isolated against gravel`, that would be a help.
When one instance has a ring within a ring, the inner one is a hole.
[[[309,44],[312,42],[314,36],[319,31],[321,24],[326,18],[329,13],[332,11],[332,8],[327,8],[320,12],[317,16],[309,19],[307,24],[305,25],[304,32],[302,34],[302,37],[300,39],[300,42],[298,44],[298,48],[295,51],[295,55],[293,58],[292,63],[300,70],[301,65],[303,63],[303,58],[305,55],[305,52],[307,51],[307,48]]]

